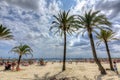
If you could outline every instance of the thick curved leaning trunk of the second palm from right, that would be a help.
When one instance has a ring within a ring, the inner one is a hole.
[[[96,54],[96,50],[95,50],[95,45],[94,45],[92,33],[88,32],[88,35],[89,35],[89,38],[90,38],[90,44],[91,44],[91,47],[92,47],[94,60],[95,60],[96,64],[98,65],[99,70],[101,71],[101,74],[106,74],[105,69],[103,68],[103,66],[101,65],[100,61],[97,58],[97,54]]]

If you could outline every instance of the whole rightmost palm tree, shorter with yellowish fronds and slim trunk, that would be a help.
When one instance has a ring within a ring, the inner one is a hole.
[[[115,36],[114,34],[115,33],[112,30],[101,29],[100,33],[98,33],[97,36],[96,36],[99,39],[99,42],[97,42],[97,45],[99,45],[101,42],[105,43],[111,70],[114,70],[114,69],[113,69],[113,65],[112,65],[112,60],[111,60],[111,55],[110,55],[108,42],[111,41],[111,40],[118,40],[117,38],[114,38],[114,36]]]

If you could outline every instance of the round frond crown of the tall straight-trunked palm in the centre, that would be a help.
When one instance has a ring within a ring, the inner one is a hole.
[[[50,28],[53,29],[57,29],[55,34],[57,32],[59,32],[61,35],[65,32],[67,32],[68,34],[72,34],[72,32],[76,31],[78,29],[78,24],[77,24],[77,20],[75,19],[74,15],[69,15],[69,12],[66,11],[60,11],[60,13],[58,13],[58,15],[54,15],[53,17],[55,18],[55,20],[52,22],[52,26]]]

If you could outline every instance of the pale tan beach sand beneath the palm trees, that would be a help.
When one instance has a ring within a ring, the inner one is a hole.
[[[102,63],[105,68],[109,64]],[[37,64],[20,66],[21,71],[3,71],[0,66],[0,80],[49,80],[55,76],[57,79],[69,77],[71,80],[120,80],[120,75],[107,70],[107,75],[101,75],[95,63],[66,64],[66,71],[61,72],[62,63],[47,63],[45,66]],[[120,64],[117,64],[120,72]]]

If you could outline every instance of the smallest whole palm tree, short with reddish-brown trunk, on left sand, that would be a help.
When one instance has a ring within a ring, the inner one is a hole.
[[[32,55],[32,49],[30,48],[30,46],[26,45],[26,44],[20,44],[19,46],[16,46],[16,47],[13,47],[11,49],[11,52],[14,52],[14,53],[18,53],[19,55],[19,59],[18,59],[18,64],[17,64],[17,67],[16,67],[16,70],[20,70],[19,68],[19,65],[20,65],[20,60],[22,58],[23,55],[27,55],[27,54],[31,54]]]

